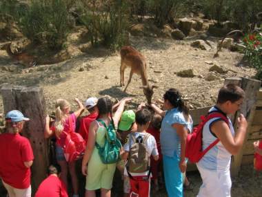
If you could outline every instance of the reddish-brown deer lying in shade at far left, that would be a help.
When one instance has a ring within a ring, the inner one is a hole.
[[[6,49],[6,53],[8,53],[8,55],[12,59],[17,61],[17,63],[23,64],[26,67],[33,67],[37,65],[37,62],[34,61],[34,57],[32,55],[28,55],[26,53],[17,53],[17,54],[12,53],[11,43],[6,44],[5,49]]]

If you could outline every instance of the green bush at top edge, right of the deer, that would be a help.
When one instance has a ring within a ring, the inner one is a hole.
[[[161,27],[172,22],[185,10],[183,2],[183,0],[148,0],[148,8],[157,26]]]

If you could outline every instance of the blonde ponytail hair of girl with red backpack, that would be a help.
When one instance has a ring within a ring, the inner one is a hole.
[[[67,100],[64,99],[58,99],[55,103],[55,122],[54,122],[54,128],[55,128],[55,135],[59,138],[61,133],[63,132],[63,124],[66,121],[66,114],[63,113],[63,109],[66,109],[69,107],[70,104]]]

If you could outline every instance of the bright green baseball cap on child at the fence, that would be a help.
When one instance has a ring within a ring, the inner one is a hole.
[[[136,114],[132,110],[124,111],[121,115],[121,120],[119,123],[119,129],[121,131],[128,131],[132,124],[134,123]]]

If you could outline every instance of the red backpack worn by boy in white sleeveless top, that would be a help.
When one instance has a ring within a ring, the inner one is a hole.
[[[208,120],[212,118],[221,118],[229,125],[228,118],[218,111],[210,112],[206,116],[201,115],[202,121],[199,123],[199,125],[194,127],[192,133],[188,134],[186,139],[185,157],[188,158],[192,163],[199,162],[205,153],[207,153],[212,147],[214,147],[214,145],[219,142],[219,139],[216,139],[205,150],[202,150],[203,126],[206,122],[208,122]]]

